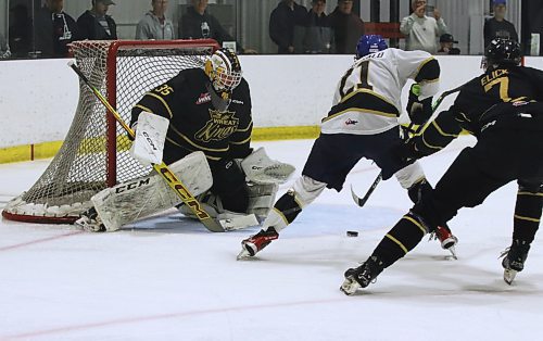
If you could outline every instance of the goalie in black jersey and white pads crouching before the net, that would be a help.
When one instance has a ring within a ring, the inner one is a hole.
[[[278,185],[294,167],[253,150],[251,96],[238,56],[215,51],[202,67],[181,71],[134,106],[130,154],[143,165],[169,165],[225,230],[258,225]],[[85,230],[114,231],[173,206],[192,215],[159,174],[105,189],[76,222]]]

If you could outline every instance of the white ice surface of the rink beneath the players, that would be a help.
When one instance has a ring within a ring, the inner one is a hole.
[[[431,182],[472,142],[463,137],[424,159]],[[294,164],[298,176],[312,143],[255,146]],[[0,206],[48,162],[0,165]],[[363,195],[377,174],[361,162],[341,193],[326,190],[252,261],[236,255],[257,228],[212,233],[175,211],[111,233],[3,219],[0,340],[538,340],[541,239],[510,287],[498,260],[510,244],[516,184],[451,223],[457,261],[425,239],[362,294],[340,292],[343,271],[411,206],[391,179],[357,207],[349,187]]]

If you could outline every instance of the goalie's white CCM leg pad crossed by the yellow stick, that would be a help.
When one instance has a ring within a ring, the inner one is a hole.
[[[213,185],[203,152],[185,156],[169,165],[169,169],[192,195],[205,192]],[[181,203],[179,197],[155,173],[108,188],[93,195],[91,201],[108,231]]]

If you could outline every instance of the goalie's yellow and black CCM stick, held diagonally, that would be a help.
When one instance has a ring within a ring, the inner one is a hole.
[[[89,89],[94,93],[94,96],[102,102],[102,104],[108,109],[108,111],[115,117],[115,119],[121,124],[121,126],[126,130],[126,132],[135,138],[136,134],[134,130],[124,122],[117,111],[108,102],[108,99],[103,97],[100,91],[90,84],[87,76],[84,75],[81,70],[73,62],[68,62],[68,66],[79,76],[79,78],[89,87]],[[202,207],[200,202],[190,193],[190,191],[185,187],[185,185],[179,181],[175,174],[169,171],[168,166],[164,162],[161,164],[153,164],[154,171],[159,173],[164,181],[175,191],[177,197],[190,207],[192,213],[202,222],[202,224],[213,232],[224,232],[226,229],[223,228],[216,220],[214,220],[207,212]]]

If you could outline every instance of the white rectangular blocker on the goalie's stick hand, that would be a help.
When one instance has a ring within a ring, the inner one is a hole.
[[[130,155],[144,166],[162,163],[169,119],[141,112],[137,125]]]

